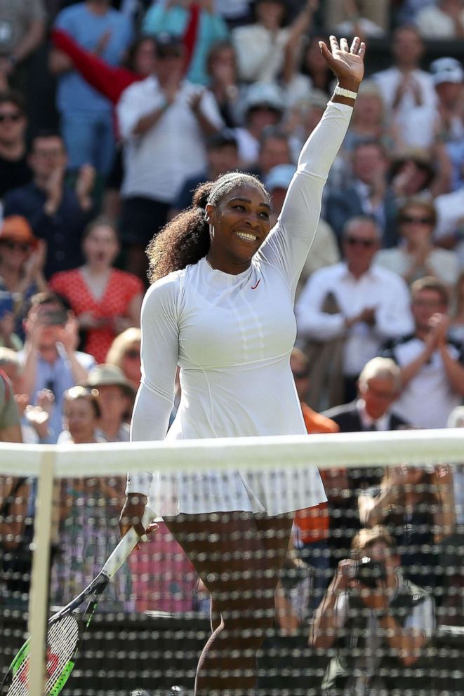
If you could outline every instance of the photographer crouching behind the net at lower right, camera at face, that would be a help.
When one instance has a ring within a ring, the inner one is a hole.
[[[382,527],[361,530],[352,558],[338,563],[312,627],[314,648],[327,650],[340,638],[322,694],[420,690],[421,657],[434,627],[433,599],[402,577],[395,540]]]

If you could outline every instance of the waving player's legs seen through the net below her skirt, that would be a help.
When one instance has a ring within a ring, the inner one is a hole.
[[[243,512],[165,518],[211,594],[214,631],[199,659],[195,696],[255,693],[256,653],[272,626],[292,520]]]

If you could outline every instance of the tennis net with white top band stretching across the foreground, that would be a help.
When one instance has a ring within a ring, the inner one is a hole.
[[[150,504],[169,513],[102,594],[61,693],[190,696],[197,680],[198,696],[464,694],[462,443],[417,431],[53,450],[49,615],[119,542],[128,461],[156,462]],[[0,465],[1,678],[34,633],[41,450],[20,456]],[[328,501],[295,513],[291,500],[314,502],[317,467]],[[76,640],[74,617],[48,633],[52,693]],[[21,669],[8,693],[30,696]]]

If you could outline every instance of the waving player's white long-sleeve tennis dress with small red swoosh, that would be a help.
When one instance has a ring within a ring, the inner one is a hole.
[[[351,113],[351,107],[329,102],[300,154],[277,225],[249,269],[230,275],[201,259],[147,291],[133,440],[305,433],[289,366],[293,301],[322,189]],[[182,396],[166,435],[178,365]],[[218,510],[274,515],[326,499],[315,469],[295,474],[282,464],[274,478],[244,471],[158,474],[151,504],[164,516]],[[130,476],[127,492],[148,495],[150,483],[149,471]]]

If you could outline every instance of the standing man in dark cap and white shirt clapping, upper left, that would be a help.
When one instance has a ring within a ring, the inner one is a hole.
[[[158,36],[154,74],[128,87],[117,107],[125,163],[122,241],[126,268],[140,277],[145,247],[165,225],[181,183],[206,167],[204,136],[223,126],[213,95],[183,80],[184,57],[180,39]]]

